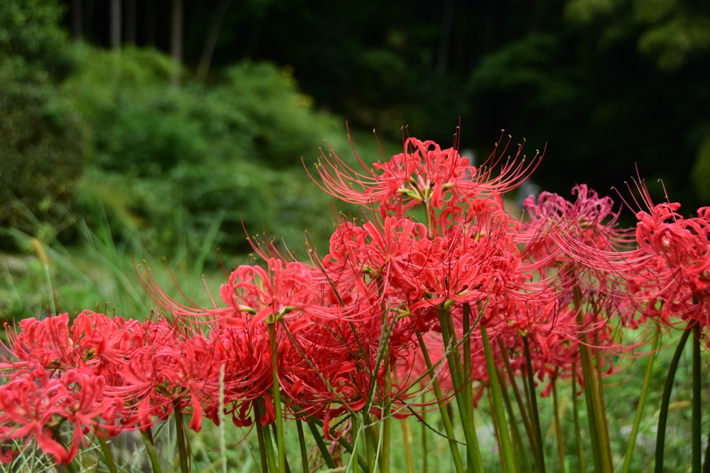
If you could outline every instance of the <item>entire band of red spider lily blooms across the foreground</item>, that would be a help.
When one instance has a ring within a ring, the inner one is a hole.
[[[482,330],[504,377],[583,385],[583,347],[601,375],[630,348],[623,328],[709,324],[710,208],[684,218],[642,186],[636,228],[620,228],[612,199],[579,185],[572,201],[530,196],[516,217],[503,194],[540,154],[511,157],[501,144],[475,167],[457,148],[409,138],[361,172],[324,155],[316,182],[365,211],[342,216],[308,263],[253,240],[265,265],[237,267],[221,305],[171,299],[148,271],[151,320],[84,311],[22,321],[0,363],[0,460],[35,439],[71,462],[94,435],[146,430],[176,410],[196,431],[203,416],[231,414],[238,426],[281,416],[318,421],[333,440],[336,418],[416,416],[437,403],[429,393],[445,403],[464,382],[476,404],[492,378]]]

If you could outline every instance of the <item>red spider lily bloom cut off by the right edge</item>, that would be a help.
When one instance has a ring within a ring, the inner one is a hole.
[[[645,307],[643,316],[657,317],[666,323],[674,317],[678,321],[692,320],[707,325],[710,323],[706,290],[710,283],[710,212],[700,208],[698,217],[683,218],[677,212],[679,204],[655,206],[643,184],[637,187],[649,211],[638,211],[633,240],[623,230],[610,233],[611,236],[598,231],[598,235],[606,238],[604,245],[603,239],[583,238],[585,228],[577,223],[558,231],[557,243],[567,255],[593,269],[597,284],[606,279],[607,282],[613,280],[612,287],[626,286],[633,301]],[[638,246],[630,248],[629,241]],[[637,322],[626,318],[626,323]]]

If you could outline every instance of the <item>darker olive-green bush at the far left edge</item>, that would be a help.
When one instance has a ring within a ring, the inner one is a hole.
[[[58,94],[76,65],[61,15],[54,2],[0,5],[0,226],[27,232],[28,214],[65,225],[84,166],[84,126]]]

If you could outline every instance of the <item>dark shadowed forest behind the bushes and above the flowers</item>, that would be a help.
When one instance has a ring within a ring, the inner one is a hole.
[[[192,7],[188,65],[216,4]],[[253,0],[226,12],[214,62],[245,56],[293,66],[320,108],[391,138],[451,143],[461,116],[479,156],[502,128],[529,154],[548,143],[545,189],[605,192],[638,164],[684,211],[710,204],[708,0]]]

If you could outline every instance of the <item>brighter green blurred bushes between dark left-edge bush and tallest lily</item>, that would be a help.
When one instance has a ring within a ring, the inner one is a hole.
[[[289,69],[245,61],[212,87],[175,88],[173,63],[155,50],[81,57],[65,92],[92,127],[78,207],[90,228],[100,201],[117,238],[138,230],[155,254],[194,254],[212,226],[227,254],[250,250],[245,229],[297,247],[307,229],[327,242],[331,199],[300,157],[312,162],[328,137],[342,149],[344,124],[315,111]]]

